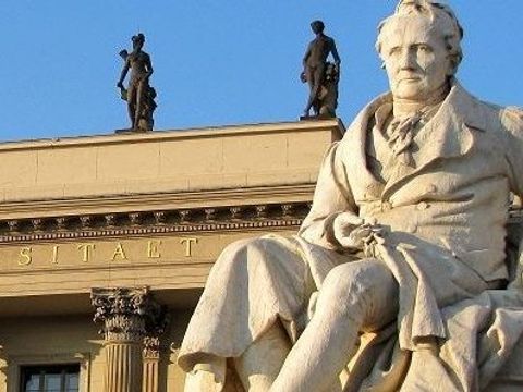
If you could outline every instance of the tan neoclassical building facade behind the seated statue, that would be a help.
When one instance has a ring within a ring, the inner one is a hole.
[[[0,392],[177,392],[232,241],[293,234],[339,120],[0,144]]]

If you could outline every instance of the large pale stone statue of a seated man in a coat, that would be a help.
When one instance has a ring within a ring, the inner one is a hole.
[[[523,332],[506,262],[523,113],[457,82],[462,36],[429,0],[380,24],[390,93],[328,150],[296,236],[223,250],[181,346],[186,391],[495,388]]]

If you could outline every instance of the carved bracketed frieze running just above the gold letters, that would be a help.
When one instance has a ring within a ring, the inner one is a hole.
[[[0,243],[297,226],[308,209],[308,203],[287,203],[10,219]]]

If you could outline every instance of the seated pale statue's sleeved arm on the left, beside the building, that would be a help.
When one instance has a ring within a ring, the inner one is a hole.
[[[348,234],[363,223],[343,164],[342,144],[335,143],[324,158],[313,206],[299,232],[307,242],[330,249],[344,248],[339,241],[340,231]]]

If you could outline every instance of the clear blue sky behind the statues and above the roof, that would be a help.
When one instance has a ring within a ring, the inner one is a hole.
[[[465,29],[462,84],[523,106],[523,1],[449,0]],[[156,128],[293,121],[307,88],[301,59],[325,21],[342,57],[349,124],[387,89],[374,51],[393,0],[1,0],[0,139],[109,134],[129,126],[119,50],[146,35]]]

